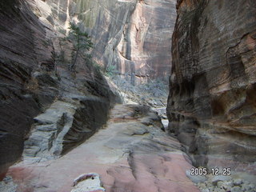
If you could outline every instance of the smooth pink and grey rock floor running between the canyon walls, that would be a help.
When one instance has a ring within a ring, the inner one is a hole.
[[[10,167],[16,191],[69,192],[74,178],[88,173],[100,175],[106,192],[199,191],[186,177],[189,158],[148,106],[116,105],[86,142],[61,158],[31,162]]]

